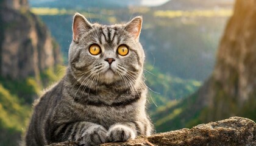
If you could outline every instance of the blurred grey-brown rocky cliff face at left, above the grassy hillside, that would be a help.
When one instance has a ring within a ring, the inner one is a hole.
[[[30,13],[27,0],[1,1],[0,74],[3,77],[38,76],[60,63],[61,55],[46,26]]]

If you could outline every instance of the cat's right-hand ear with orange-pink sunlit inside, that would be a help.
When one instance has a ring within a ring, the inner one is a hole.
[[[127,23],[124,29],[129,32],[135,39],[140,36],[142,26],[142,16],[137,16],[133,18],[129,23]]]

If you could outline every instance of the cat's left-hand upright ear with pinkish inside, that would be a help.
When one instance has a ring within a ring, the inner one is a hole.
[[[79,37],[83,33],[87,33],[92,29],[91,23],[80,13],[76,13],[73,19],[73,41],[78,42]]]

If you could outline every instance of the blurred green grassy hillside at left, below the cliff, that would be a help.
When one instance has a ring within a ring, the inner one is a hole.
[[[57,82],[65,72],[63,66],[46,69],[40,78],[22,80],[0,77],[0,145],[18,145],[32,113],[32,103],[44,87]]]

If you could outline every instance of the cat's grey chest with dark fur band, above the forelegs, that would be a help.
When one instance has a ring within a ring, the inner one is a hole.
[[[99,123],[108,127],[118,122],[135,120],[144,107],[145,98],[129,93],[101,92],[89,95],[88,99],[73,102],[72,113],[75,119]]]

